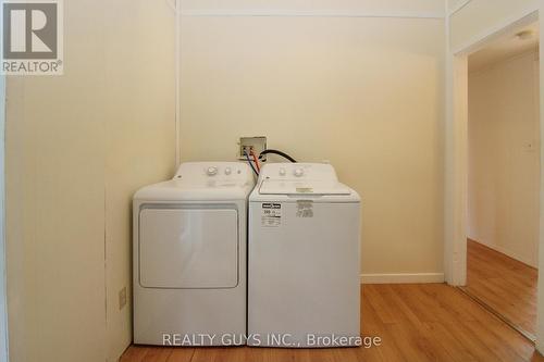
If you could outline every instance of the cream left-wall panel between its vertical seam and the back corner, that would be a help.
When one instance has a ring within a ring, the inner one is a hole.
[[[164,0],[108,3],[104,92],[108,357],[132,340],[132,197],[173,176],[175,14]],[[127,288],[128,305],[119,310]]]

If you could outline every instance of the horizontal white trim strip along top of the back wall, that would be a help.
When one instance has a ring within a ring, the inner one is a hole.
[[[281,16],[281,17],[400,17],[400,18],[444,18],[442,12],[380,12],[380,11],[335,11],[335,10],[181,10],[181,16],[233,17],[233,16]]]

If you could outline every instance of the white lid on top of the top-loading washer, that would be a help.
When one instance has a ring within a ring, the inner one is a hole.
[[[351,189],[335,180],[264,179],[261,195],[351,195]]]

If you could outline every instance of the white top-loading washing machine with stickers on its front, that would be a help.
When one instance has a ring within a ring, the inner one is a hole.
[[[329,164],[262,167],[249,197],[248,345],[360,345],[360,198]]]

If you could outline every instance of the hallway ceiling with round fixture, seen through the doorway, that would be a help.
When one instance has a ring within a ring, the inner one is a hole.
[[[527,39],[520,39],[517,34],[531,32]],[[469,57],[469,72],[478,72],[502,60],[516,57],[518,54],[539,49],[539,23],[533,23],[522,28],[512,30],[482,50]]]

